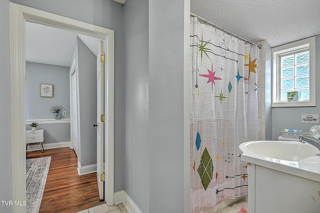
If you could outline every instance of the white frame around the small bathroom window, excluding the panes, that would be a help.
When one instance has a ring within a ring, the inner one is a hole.
[[[309,48],[309,101],[280,102],[280,60],[279,57],[285,53],[299,51]],[[284,44],[271,48],[272,54],[272,104],[271,107],[308,107],[316,105],[315,87],[315,37]]]

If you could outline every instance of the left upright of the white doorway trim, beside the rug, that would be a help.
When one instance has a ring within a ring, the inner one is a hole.
[[[10,2],[10,121],[12,200],[25,201],[25,21]],[[22,174],[21,174],[22,173]],[[25,213],[25,206],[13,206],[13,213]]]

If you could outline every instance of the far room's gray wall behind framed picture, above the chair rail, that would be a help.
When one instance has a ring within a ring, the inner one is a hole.
[[[53,84],[53,98],[40,97],[40,83]],[[61,105],[70,118],[69,67],[25,63],[25,119],[54,119],[51,106]]]

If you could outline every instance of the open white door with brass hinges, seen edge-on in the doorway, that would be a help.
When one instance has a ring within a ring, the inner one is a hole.
[[[97,130],[96,130],[96,151],[97,151],[97,159],[96,159],[96,178],[98,182],[98,190],[100,200],[104,199],[104,190],[103,190],[103,181],[101,180],[101,175],[103,173],[103,122],[101,121],[101,115],[103,115],[103,72],[104,72],[104,64],[101,62],[101,55],[103,55],[103,41],[100,41],[98,54],[96,57],[96,122],[97,122]]]

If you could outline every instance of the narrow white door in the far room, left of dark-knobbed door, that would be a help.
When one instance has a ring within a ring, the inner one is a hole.
[[[78,155],[78,122],[77,122],[77,90],[76,90],[76,71],[74,70],[71,76],[71,89],[72,89],[72,130],[71,130],[71,140],[72,140],[72,148],[76,154]]]

